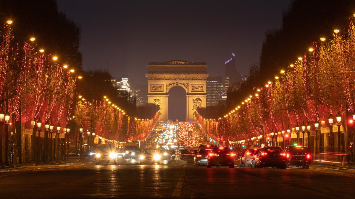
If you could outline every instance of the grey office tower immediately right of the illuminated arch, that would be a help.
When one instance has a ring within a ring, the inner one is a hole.
[[[206,84],[206,106],[217,106],[222,90],[222,76],[209,76]]]

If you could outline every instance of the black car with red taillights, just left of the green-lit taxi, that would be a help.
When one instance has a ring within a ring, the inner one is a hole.
[[[255,167],[277,167],[286,169],[286,154],[281,147],[263,147],[255,158]]]

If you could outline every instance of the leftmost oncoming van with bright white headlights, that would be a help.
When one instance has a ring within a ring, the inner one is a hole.
[[[102,163],[117,164],[118,153],[114,144],[98,144],[96,148],[95,165]]]

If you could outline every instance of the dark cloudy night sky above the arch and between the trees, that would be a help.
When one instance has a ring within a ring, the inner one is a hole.
[[[153,1],[58,0],[60,11],[82,28],[83,68],[109,68],[146,84],[148,62],[207,62],[210,75],[224,76],[236,55],[247,75],[260,56],[264,33],[281,25],[290,0]],[[109,63],[113,67],[109,67]]]

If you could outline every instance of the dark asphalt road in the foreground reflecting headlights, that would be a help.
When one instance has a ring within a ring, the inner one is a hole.
[[[236,163],[236,165],[239,165]],[[90,159],[0,171],[1,198],[355,198],[355,172],[320,166],[252,169],[95,166]]]

